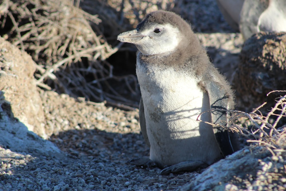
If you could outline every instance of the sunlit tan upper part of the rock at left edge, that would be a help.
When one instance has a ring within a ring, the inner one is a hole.
[[[21,121],[29,131],[46,139],[42,102],[34,78],[35,65],[26,52],[0,38],[1,107],[11,119]]]

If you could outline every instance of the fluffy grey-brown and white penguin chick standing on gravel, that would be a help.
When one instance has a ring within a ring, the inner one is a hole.
[[[117,40],[138,48],[136,74],[140,84],[140,126],[150,157],[127,163],[164,168],[161,174],[193,171],[233,153],[228,113],[234,96],[225,78],[209,62],[190,25],[168,11],[154,11],[136,29]],[[215,124],[212,127],[202,121]],[[221,125],[221,126],[220,126]]]

